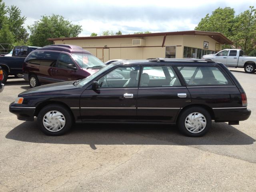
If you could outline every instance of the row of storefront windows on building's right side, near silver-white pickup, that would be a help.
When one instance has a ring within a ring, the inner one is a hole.
[[[185,47],[183,50],[183,58],[196,58],[200,59],[204,55],[215,54],[216,51],[212,50],[205,50],[205,49],[198,49],[192,47]]]

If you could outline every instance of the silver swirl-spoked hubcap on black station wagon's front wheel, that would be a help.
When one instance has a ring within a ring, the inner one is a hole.
[[[43,124],[48,131],[57,132],[62,130],[66,124],[66,120],[61,112],[49,111],[44,115]]]

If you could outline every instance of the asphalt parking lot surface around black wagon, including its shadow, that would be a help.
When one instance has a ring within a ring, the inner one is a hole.
[[[255,192],[256,73],[230,70],[252,114],[240,125],[212,122],[201,138],[157,124],[75,124],[64,136],[46,136],[36,118],[9,112],[30,88],[11,76],[0,94],[0,192]]]

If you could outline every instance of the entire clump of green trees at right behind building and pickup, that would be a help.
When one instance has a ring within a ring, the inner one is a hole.
[[[249,10],[235,16],[233,8],[217,8],[212,15],[206,15],[199,22],[195,30],[220,32],[234,42],[236,48],[249,54],[256,46],[256,10],[250,6]],[[230,45],[222,46],[230,48]]]

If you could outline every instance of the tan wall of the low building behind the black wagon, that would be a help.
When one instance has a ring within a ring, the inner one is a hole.
[[[147,59],[165,58],[165,46],[176,46],[176,58],[183,58],[184,46],[203,49],[204,41],[209,42],[208,50],[215,50],[216,41],[209,36],[175,35],[166,36],[164,47],[162,43],[164,36],[144,37],[145,47],[132,46],[132,39],[136,38],[116,38],[116,39],[90,39],[90,40],[64,40],[55,41],[55,44],[77,45],[88,50],[94,56],[97,55],[96,48],[109,48],[109,54],[104,56],[112,59]],[[220,45],[220,48],[222,45]],[[102,60],[103,61],[103,60]],[[106,60],[104,60],[106,62]]]

